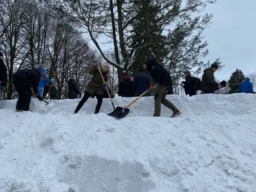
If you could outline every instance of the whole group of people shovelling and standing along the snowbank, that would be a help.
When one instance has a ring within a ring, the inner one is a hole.
[[[192,77],[189,71],[184,72],[186,81],[182,81],[180,86],[185,90],[186,95],[196,95],[196,91],[200,90],[202,94],[214,93],[216,90],[226,86],[226,81],[217,83],[214,79],[214,72],[218,70],[218,65],[213,63],[210,68],[204,70],[202,81],[198,78]],[[146,71],[150,73],[153,81],[150,82],[150,78],[146,74]],[[83,98],[80,100],[74,114],[83,107],[86,100],[90,97],[97,98],[97,105],[95,108],[95,114],[99,113],[102,99],[108,97],[106,91],[108,90],[107,83],[109,79],[110,65],[104,63],[97,67],[94,65],[89,74],[92,75],[87,84]],[[3,86],[7,84],[7,68],[3,63],[3,54],[0,52],[0,93]],[[13,74],[13,84],[19,95],[17,100],[16,111],[28,111],[29,103],[32,97],[36,97],[38,100],[43,100],[43,97],[47,94],[47,90],[50,93],[50,99],[58,99],[57,83],[52,83],[47,77],[44,65],[40,64],[36,69],[23,69],[18,70]],[[50,87],[51,86],[51,87]],[[172,90],[172,77],[163,65],[160,65],[155,59],[150,59],[143,62],[140,72],[134,77],[133,81],[127,74],[122,76],[122,79],[118,86],[118,95],[122,97],[138,97],[144,93],[148,88],[154,90],[154,115],[161,116],[161,104],[172,111],[171,117],[180,115],[180,110],[175,105],[166,99],[166,95]],[[239,92],[254,93],[252,83],[250,79],[246,78],[239,86]],[[81,92],[77,88],[76,79],[70,77],[68,80],[68,98],[77,99],[81,98]],[[110,94],[113,98],[113,95]]]

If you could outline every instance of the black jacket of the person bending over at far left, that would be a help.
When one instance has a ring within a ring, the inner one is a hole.
[[[40,72],[33,69],[18,70],[13,76],[21,77],[22,81],[28,82],[30,87],[33,88],[35,94],[38,94],[38,83],[40,81]]]

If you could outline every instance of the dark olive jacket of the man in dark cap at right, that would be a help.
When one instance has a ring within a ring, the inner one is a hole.
[[[201,91],[214,92],[217,84],[218,83],[214,80],[214,75],[211,68],[206,68],[202,77]]]

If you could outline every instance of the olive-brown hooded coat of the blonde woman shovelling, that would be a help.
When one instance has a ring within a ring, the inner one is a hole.
[[[102,73],[104,81],[108,82],[108,76],[107,76],[106,72],[103,71],[103,68],[100,68],[100,72]],[[95,93],[97,95],[103,94],[103,92],[102,92],[103,80],[102,80],[102,77],[100,76],[100,72],[99,72],[99,68],[97,67],[97,65],[94,65],[90,69],[89,74],[93,75],[93,77],[87,84],[85,92],[88,92],[91,95],[93,95],[93,93]]]

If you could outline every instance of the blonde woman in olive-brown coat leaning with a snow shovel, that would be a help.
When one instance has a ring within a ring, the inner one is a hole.
[[[100,66],[100,71],[102,73],[102,76],[105,82],[108,81],[109,68],[110,66],[108,63],[105,63]],[[95,94],[98,101],[95,108],[95,114],[99,113],[100,111],[100,107],[102,104],[102,95],[103,95],[103,92],[102,92],[103,80],[102,80],[102,77],[100,76],[99,68],[97,67],[97,65],[94,65],[91,68],[91,70],[89,71],[89,74],[93,75],[93,77],[87,84],[83,99],[80,100],[73,114],[76,114],[83,107],[86,100],[88,100],[88,98],[93,94]]]

